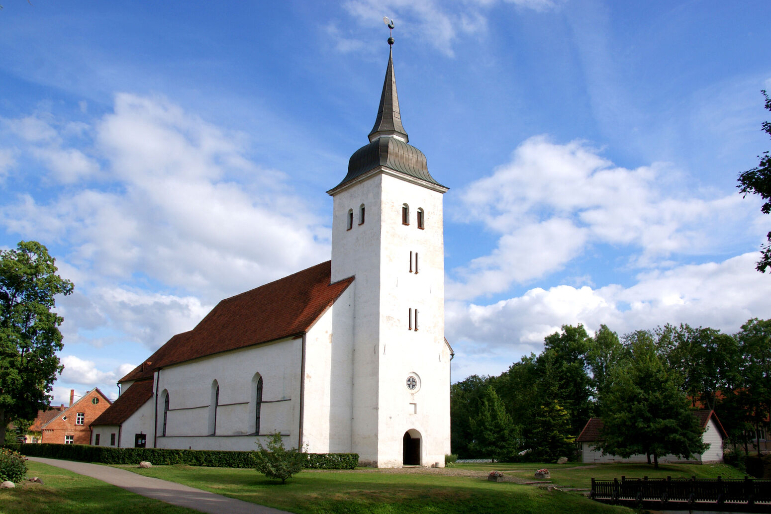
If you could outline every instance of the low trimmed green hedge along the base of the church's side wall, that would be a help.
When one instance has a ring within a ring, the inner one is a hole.
[[[141,461],[156,465],[200,465],[211,468],[254,468],[254,452],[226,452],[222,450],[172,450],[167,448],[114,448],[91,445],[10,444],[4,445],[24,455],[69,459],[102,464],[138,464]],[[308,465],[313,469],[354,469],[359,463],[358,453],[309,453]]]

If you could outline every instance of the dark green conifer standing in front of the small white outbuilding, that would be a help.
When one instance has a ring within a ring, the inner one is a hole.
[[[604,440],[598,448],[624,458],[652,456],[657,468],[663,455],[704,452],[702,428],[680,388],[682,378],[659,357],[654,334],[636,331],[625,342],[631,358],[614,369],[601,397]]]

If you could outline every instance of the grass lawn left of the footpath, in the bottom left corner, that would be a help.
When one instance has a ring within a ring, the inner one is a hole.
[[[66,469],[39,462],[27,462],[27,467],[27,476],[39,476],[43,485],[22,482],[16,484],[15,489],[0,489],[3,514],[197,514],[197,511],[145,498]]]

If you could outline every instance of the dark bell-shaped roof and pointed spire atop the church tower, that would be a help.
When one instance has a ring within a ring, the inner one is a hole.
[[[389,45],[392,39],[389,38]],[[415,146],[407,143],[409,137],[402,126],[399,113],[399,97],[396,95],[396,78],[393,73],[393,52],[389,51],[388,66],[385,69],[385,81],[380,95],[380,106],[375,126],[369,133],[369,144],[356,150],[348,160],[348,174],[341,183],[328,190],[333,194],[338,187],[365,175],[379,167],[385,167],[407,176],[424,180],[441,188],[429,173],[426,156]]]

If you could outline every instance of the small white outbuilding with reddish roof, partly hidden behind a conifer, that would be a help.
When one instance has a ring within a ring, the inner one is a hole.
[[[712,462],[723,462],[723,438],[726,437],[726,430],[720,424],[720,420],[715,411],[701,410],[694,411],[693,415],[699,419],[702,426],[702,442],[708,443],[704,453],[691,455],[688,459],[683,459],[677,455],[664,455],[658,458],[660,464],[668,462],[682,462],[692,464],[709,464]],[[578,435],[576,441],[581,445],[581,457],[583,462],[637,462],[647,463],[646,455],[631,455],[628,459],[623,459],[618,455],[603,455],[596,447],[602,441],[602,420],[600,418],[590,418],[581,435]]]

